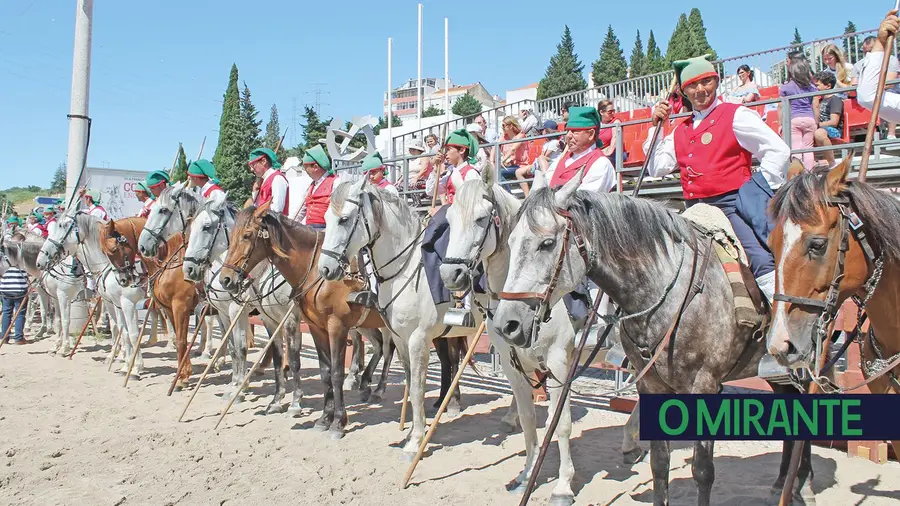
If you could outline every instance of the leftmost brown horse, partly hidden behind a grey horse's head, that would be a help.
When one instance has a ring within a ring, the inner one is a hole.
[[[116,271],[116,278],[123,286],[139,282],[140,276],[134,268],[134,259],[139,256],[138,237],[146,222],[146,218],[134,217],[100,223],[100,249],[109,258]],[[176,390],[185,388],[191,376],[191,359],[187,349],[188,324],[200,301],[197,287],[184,279],[181,271],[183,257],[184,240],[181,236],[169,239],[166,247],[161,248],[155,258],[141,255],[141,264],[147,270],[154,303],[165,312],[175,327],[178,363],[184,360],[181,370],[177,371]]]

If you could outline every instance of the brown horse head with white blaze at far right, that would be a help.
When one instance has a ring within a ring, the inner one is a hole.
[[[875,242],[872,221],[879,218],[874,215],[891,219],[885,206],[872,203],[879,200],[877,191],[861,183],[848,185],[850,160],[830,171],[792,171],[770,203],[775,302],[766,344],[787,367],[811,365],[841,303],[869,279],[875,259],[867,261],[856,230],[868,224],[868,241]]]

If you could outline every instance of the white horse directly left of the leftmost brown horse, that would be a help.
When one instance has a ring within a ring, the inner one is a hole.
[[[140,327],[137,323],[137,305],[146,298],[142,287],[123,287],[113,275],[113,267],[109,259],[100,249],[98,240],[99,220],[87,213],[76,211],[74,214],[63,214],[56,228],[44,241],[38,254],[37,265],[43,269],[53,265],[64,255],[78,258],[84,267],[85,275],[95,279],[97,291],[103,304],[110,309],[112,336],[121,335],[125,352],[119,373],[128,372],[128,358],[134,353],[138,343]],[[107,363],[115,360],[118,350],[113,341],[109,350]],[[135,367],[131,374],[139,377],[144,370],[144,360],[138,351]]]

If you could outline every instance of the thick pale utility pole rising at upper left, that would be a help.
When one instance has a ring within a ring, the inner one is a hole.
[[[72,97],[69,106],[69,147],[66,155],[66,202],[71,202],[87,165],[91,88],[91,25],[94,0],[75,1],[75,43],[72,57]]]

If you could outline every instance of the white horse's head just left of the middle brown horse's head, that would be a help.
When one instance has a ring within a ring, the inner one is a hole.
[[[185,279],[201,281],[206,269],[212,264],[213,248],[219,235],[221,234],[227,242],[228,231],[225,228],[227,198],[225,192],[215,192],[193,217],[182,265]]]

